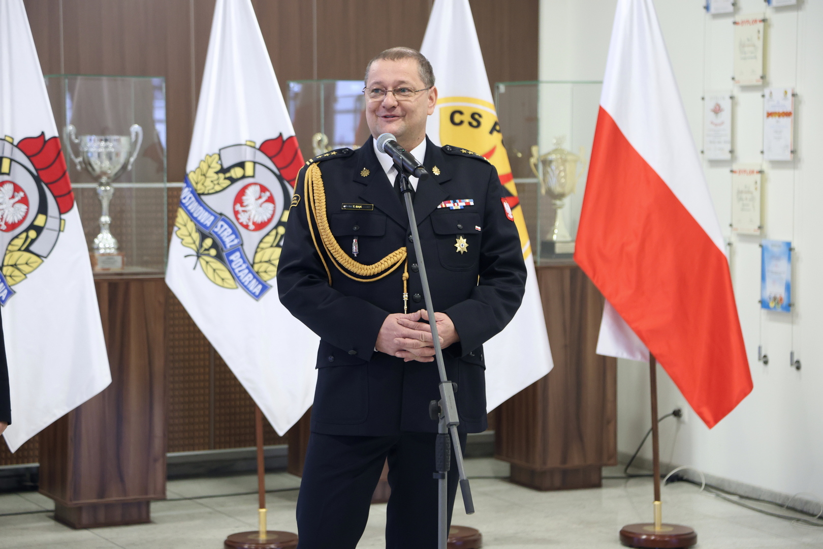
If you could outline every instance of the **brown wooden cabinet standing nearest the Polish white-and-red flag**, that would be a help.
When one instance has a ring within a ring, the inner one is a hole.
[[[497,408],[495,457],[537,490],[601,486],[617,463],[616,359],[595,353],[603,297],[574,263],[537,268],[554,369]]]

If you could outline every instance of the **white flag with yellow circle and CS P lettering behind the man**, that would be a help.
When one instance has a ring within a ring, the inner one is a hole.
[[[532,248],[468,0],[435,0],[420,52],[435,70],[439,92],[426,133],[437,145],[464,147],[485,156],[497,168],[500,183],[510,195],[504,206],[517,224],[528,269],[523,305],[509,325],[484,345],[486,402],[492,410],[548,374],[553,365]]]

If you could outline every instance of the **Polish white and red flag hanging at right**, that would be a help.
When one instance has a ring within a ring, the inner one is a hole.
[[[751,392],[723,235],[652,0],[619,0],[575,261],[607,299],[597,352],[667,371],[712,427]]]

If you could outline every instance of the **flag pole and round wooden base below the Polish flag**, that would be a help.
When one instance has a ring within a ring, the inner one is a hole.
[[[658,430],[658,365],[649,353],[649,388],[652,408],[652,468],[654,477],[653,523],[628,524],[620,531],[621,543],[628,547],[692,547],[697,533],[680,524],[663,523],[660,496],[660,431]]]

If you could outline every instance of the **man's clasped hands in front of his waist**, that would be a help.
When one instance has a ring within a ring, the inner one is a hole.
[[[453,342],[460,341],[448,314],[435,313],[435,320],[441,348],[445,349]],[[380,327],[374,348],[387,355],[398,356],[404,362],[434,361],[435,342],[428,322],[429,314],[425,309],[412,314],[389,314]]]

